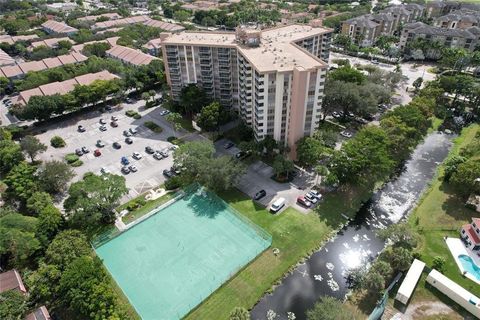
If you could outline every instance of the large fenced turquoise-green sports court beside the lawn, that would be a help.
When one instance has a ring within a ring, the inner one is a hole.
[[[198,189],[95,250],[142,319],[170,320],[270,244],[266,232]]]

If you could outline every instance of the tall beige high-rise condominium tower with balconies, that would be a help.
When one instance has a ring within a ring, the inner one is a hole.
[[[196,83],[236,108],[257,140],[272,136],[295,157],[295,143],[321,116],[331,34],[315,25],[163,34],[172,97]]]

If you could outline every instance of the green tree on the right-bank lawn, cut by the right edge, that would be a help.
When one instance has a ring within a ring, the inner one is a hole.
[[[479,177],[480,160],[473,158],[458,165],[450,183],[460,195],[468,197],[471,193],[480,193],[480,183],[477,181]]]

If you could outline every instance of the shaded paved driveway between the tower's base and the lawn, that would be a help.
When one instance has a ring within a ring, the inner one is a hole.
[[[234,156],[239,151],[237,147],[225,149],[224,145],[227,142],[226,139],[215,142],[217,155]],[[310,209],[297,204],[297,197],[304,195],[313,186],[314,177],[297,169],[297,175],[292,182],[278,183],[271,178],[273,175],[271,166],[262,161],[256,161],[248,166],[247,172],[240,178],[237,188],[252,198],[258,191],[265,190],[267,195],[258,201],[265,207],[269,207],[274,199],[283,197],[287,200],[285,208],[292,206],[300,212],[308,213]]]

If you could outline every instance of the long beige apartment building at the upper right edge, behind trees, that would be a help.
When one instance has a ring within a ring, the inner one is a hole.
[[[404,26],[399,46],[403,49],[408,43],[418,38],[435,41],[448,48],[464,48],[473,51],[479,45],[480,28],[445,29],[414,22]]]

